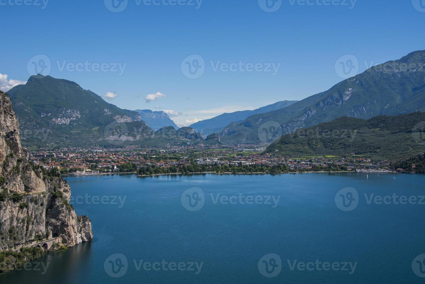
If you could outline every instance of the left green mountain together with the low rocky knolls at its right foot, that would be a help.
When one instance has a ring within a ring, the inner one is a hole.
[[[22,143],[28,147],[153,147],[201,141],[192,128],[174,136],[154,132],[139,113],[105,102],[68,80],[31,76],[26,85],[7,94],[20,122]]]

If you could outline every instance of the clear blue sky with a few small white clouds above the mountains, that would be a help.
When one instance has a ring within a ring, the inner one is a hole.
[[[114,0],[121,12],[112,0],[23,1],[0,0],[0,87],[28,80],[44,54],[52,77],[179,126],[325,91],[343,80],[341,57],[362,72],[425,49],[425,0]]]

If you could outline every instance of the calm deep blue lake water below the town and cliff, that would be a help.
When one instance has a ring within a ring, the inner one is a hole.
[[[424,175],[67,179],[94,239],[0,275],[0,283],[425,281],[425,200],[417,204]],[[393,194],[410,199],[399,204]]]

